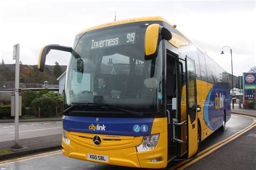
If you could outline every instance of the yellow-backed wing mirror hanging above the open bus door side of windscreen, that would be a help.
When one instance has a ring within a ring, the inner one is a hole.
[[[144,51],[145,60],[157,58],[158,47],[161,39],[169,41],[172,38],[172,33],[165,27],[159,24],[151,24],[147,27],[145,33]]]

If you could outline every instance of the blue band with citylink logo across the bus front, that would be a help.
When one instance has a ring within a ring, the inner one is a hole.
[[[63,116],[63,129],[69,132],[112,134],[119,136],[147,136],[153,118],[105,118]],[[143,126],[144,125],[144,126]]]

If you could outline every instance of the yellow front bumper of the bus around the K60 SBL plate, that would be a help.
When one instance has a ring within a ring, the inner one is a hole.
[[[67,134],[69,137],[69,133]],[[98,162],[102,164],[141,167],[141,168],[164,168],[167,166],[167,132],[160,133],[158,145],[150,151],[137,152],[136,146],[125,148],[104,147],[92,148],[82,146],[75,141],[66,143],[62,140],[62,153],[66,157],[71,157],[80,160]],[[142,141],[143,137],[138,137],[137,140]],[[89,154],[106,156],[107,161],[99,161],[89,159]],[[158,160],[158,161],[154,161]]]

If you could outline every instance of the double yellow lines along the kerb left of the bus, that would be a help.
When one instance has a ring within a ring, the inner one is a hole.
[[[28,156],[28,157],[15,158],[15,159],[11,159],[11,160],[6,160],[6,161],[0,162],[0,166],[6,165],[6,164],[15,163],[15,162],[20,162],[20,161],[35,159],[35,158],[46,157],[46,156],[49,156],[49,155],[59,154],[59,153],[62,153],[62,150],[52,151],[52,152],[46,152],[46,153],[41,153],[41,154],[36,154],[36,155],[31,155],[31,156]]]

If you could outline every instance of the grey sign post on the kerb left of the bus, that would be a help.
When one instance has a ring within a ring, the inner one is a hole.
[[[15,65],[15,145],[11,148],[22,148],[19,145],[19,44],[14,45],[13,58]]]

